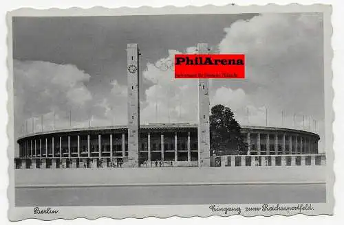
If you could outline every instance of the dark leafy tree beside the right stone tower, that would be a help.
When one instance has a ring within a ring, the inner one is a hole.
[[[210,136],[212,155],[247,154],[241,127],[230,108],[216,105],[211,108]]]

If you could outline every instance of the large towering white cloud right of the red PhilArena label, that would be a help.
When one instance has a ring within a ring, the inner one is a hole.
[[[246,115],[246,119],[239,120],[244,124],[249,120],[250,125],[266,126],[267,107],[268,126],[303,129],[300,122],[303,124],[305,115],[312,117],[311,130],[314,130],[313,119],[320,128],[324,119],[321,14],[261,14],[248,21],[236,21],[224,32],[219,52],[246,57],[244,91],[249,102],[244,104],[250,106],[243,105],[238,110],[239,117]],[[247,108],[250,108],[249,117]],[[295,122],[294,114],[297,115]],[[304,129],[309,130],[309,125]],[[323,141],[323,129],[319,134]]]

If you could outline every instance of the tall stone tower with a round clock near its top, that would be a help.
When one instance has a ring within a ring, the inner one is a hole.
[[[138,167],[138,132],[140,129],[138,44],[127,45],[128,78],[128,162],[129,167]]]

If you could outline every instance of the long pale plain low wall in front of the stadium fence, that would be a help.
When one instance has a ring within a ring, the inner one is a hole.
[[[16,187],[325,182],[325,166],[16,169]]]

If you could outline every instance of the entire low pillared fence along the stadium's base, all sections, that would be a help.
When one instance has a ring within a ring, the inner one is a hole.
[[[160,163],[161,162],[161,163]],[[111,158],[15,158],[16,169],[118,168],[127,167],[127,157]],[[325,165],[325,154],[211,156],[211,167],[275,167]],[[140,167],[197,167],[197,161],[149,161]]]

